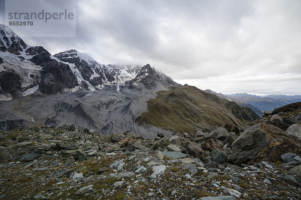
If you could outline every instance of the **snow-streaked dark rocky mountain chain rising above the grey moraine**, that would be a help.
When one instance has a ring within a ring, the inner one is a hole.
[[[42,46],[26,44],[9,27],[0,24],[0,99],[34,92],[94,91],[105,85],[138,90],[179,86],[161,71],[140,65],[100,64],[76,49],[51,55]]]

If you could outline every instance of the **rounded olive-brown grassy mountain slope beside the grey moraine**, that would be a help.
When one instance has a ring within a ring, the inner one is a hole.
[[[159,91],[147,101],[147,111],[136,121],[175,132],[192,132],[196,128],[222,126],[227,121],[242,124],[258,116],[246,107],[222,99],[194,86],[172,87]]]

